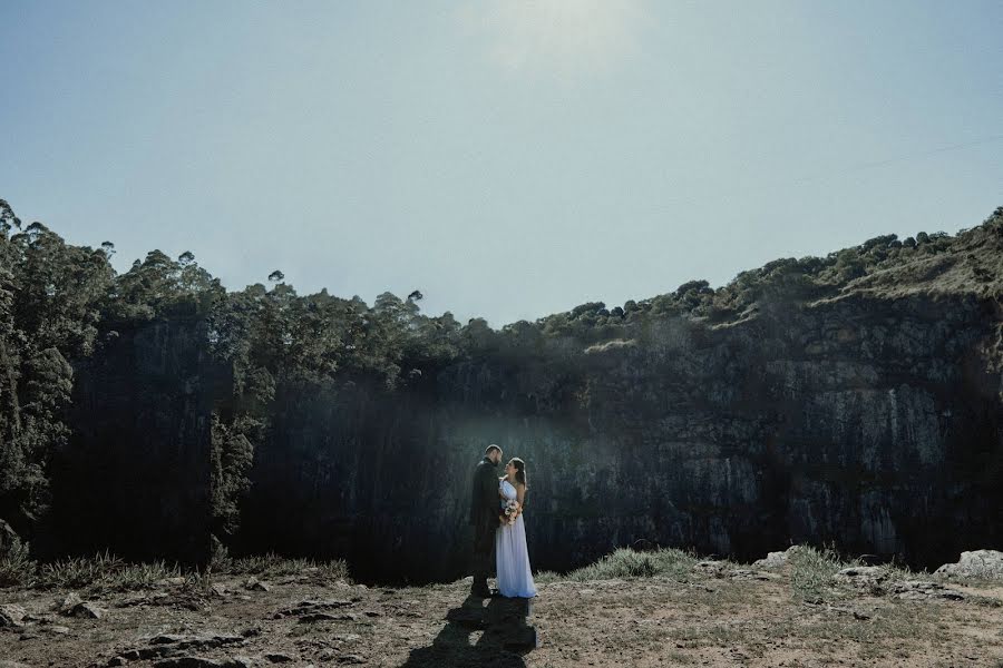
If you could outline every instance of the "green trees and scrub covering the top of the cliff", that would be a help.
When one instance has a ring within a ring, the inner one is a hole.
[[[1001,235],[1003,207],[955,236],[883,235],[826,257],[777,259],[718,288],[690,281],[654,297],[613,307],[591,302],[496,331],[483,318],[464,324],[448,312],[423,314],[417,289],[405,298],[384,293],[369,305],[327,289],[300,295],[276,269],[267,284],[228,292],[192,253],[173,259],[152,250],[117,273],[114,244],[67,244],[41,223],[25,224],[0,199],[0,519],[30,536],[50,505],[49,465],[70,438],[75,365],[120,332],[158,318],[204,322],[206,353],[232,373],[227,391],[213,400],[212,422],[212,523],[225,537],[237,530],[275,397],[289,389],[366,385],[392,394],[432,386],[457,358],[485,356],[534,358],[559,376],[597,347],[643,342],[660,321],[723,327],[771,305],[850,292],[997,298]]]

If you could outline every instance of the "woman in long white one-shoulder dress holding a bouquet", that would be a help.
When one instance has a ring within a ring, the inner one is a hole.
[[[505,478],[498,484],[503,508],[510,507],[501,525],[495,532],[495,559],[498,573],[498,591],[508,598],[533,598],[536,586],[529,570],[529,552],[526,550],[526,524],[523,522],[523,502],[526,499],[526,462],[513,458],[505,465]],[[513,504],[516,501],[517,504]],[[514,518],[514,519],[513,519]]]

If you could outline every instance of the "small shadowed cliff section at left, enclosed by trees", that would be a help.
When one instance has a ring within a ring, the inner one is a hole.
[[[75,370],[72,438],[52,468],[47,553],[204,561],[215,376],[205,323],[120,328]]]

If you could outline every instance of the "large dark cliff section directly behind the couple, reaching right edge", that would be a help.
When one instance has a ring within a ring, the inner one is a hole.
[[[471,468],[495,442],[527,462],[538,568],[639,539],[938,566],[1003,544],[999,323],[993,299],[856,291],[665,320],[559,367],[467,360],[393,399],[290,393],[245,547],[347,556],[363,578],[459,576]]]

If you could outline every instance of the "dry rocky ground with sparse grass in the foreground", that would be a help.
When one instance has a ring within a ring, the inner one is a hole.
[[[98,618],[67,591],[0,590],[0,667],[1003,667],[999,582],[850,583],[815,603],[783,570],[707,564],[686,581],[545,578],[532,602],[471,599],[465,581],[369,588],[313,569],[212,584],[79,592]]]

